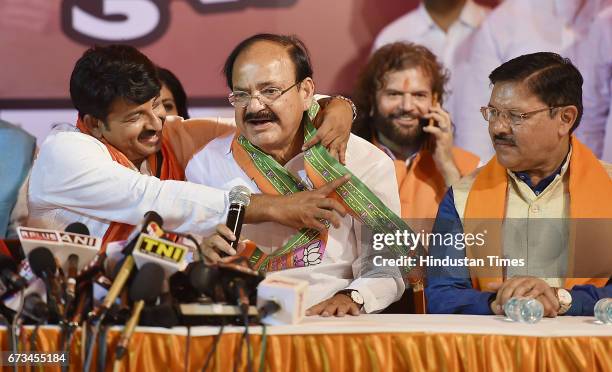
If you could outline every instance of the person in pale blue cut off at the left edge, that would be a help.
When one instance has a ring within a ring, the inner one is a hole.
[[[36,138],[23,129],[0,120],[0,239],[13,237],[15,227],[27,218],[24,182],[36,149]]]

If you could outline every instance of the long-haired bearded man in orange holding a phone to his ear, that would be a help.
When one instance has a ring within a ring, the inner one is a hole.
[[[394,160],[402,218],[435,218],[447,188],[478,166],[475,155],[453,147],[442,109],[447,80],[427,48],[398,42],[376,51],[357,82],[353,133]]]

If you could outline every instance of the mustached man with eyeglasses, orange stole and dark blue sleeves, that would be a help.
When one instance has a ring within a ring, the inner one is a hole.
[[[568,59],[540,52],[489,79],[481,113],[495,156],[440,204],[434,233],[465,244],[430,246],[449,264],[427,271],[428,309],[503,314],[510,298],[528,296],[548,317],[593,315],[597,300],[612,296],[612,165],[573,135],[582,76]],[[468,243],[468,234],[481,241]]]

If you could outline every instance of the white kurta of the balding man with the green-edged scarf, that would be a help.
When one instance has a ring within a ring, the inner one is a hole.
[[[217,138],[196,154],[187,165],[189,181],[230,190],[244,185],[253,193],[261,193],[255,182],[238,166],[230,151],[232,136]],[[393,162],[369,142],[351,135],[346,152],[346,167],[363,181],[393,212],[399,215],[400,202]],[[304,154],[300,153],[285,164],[291,174],[312,187],[304,170]],[[297,233],[278,223],[244,225],[241,238],[268,247],[271,253]],[[358,290],[365,300],[366,312],[379,311],[396,301],[404,291],[404,283],[396,278],[358,278],[361,268],[361,223],[350,215],[342,219],[338,229],[329,231],[327,247],[318,265],[281,271],[281,275],[304,279],[310,283],[306,305],[315,305],[339,290]],[[356,278],[357,277],[357,278]]]

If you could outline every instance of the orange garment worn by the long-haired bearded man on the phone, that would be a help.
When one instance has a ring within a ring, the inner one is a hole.
[[[461,176],[478,167],[480,159],[471,152],[453,147],[453,160]],[[402,205],[402,218],[436,218],[438,206],[448,187],[428,150],[421,150],[409,167],[395,160],[395,174]]]

